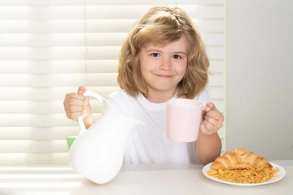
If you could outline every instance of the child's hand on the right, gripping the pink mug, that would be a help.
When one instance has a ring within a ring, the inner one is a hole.
[[[207,103],[202,114],[200,131],[204,135],[211,135],[216,133],[223,125],[224,116],[215,105],[211,102]]]

